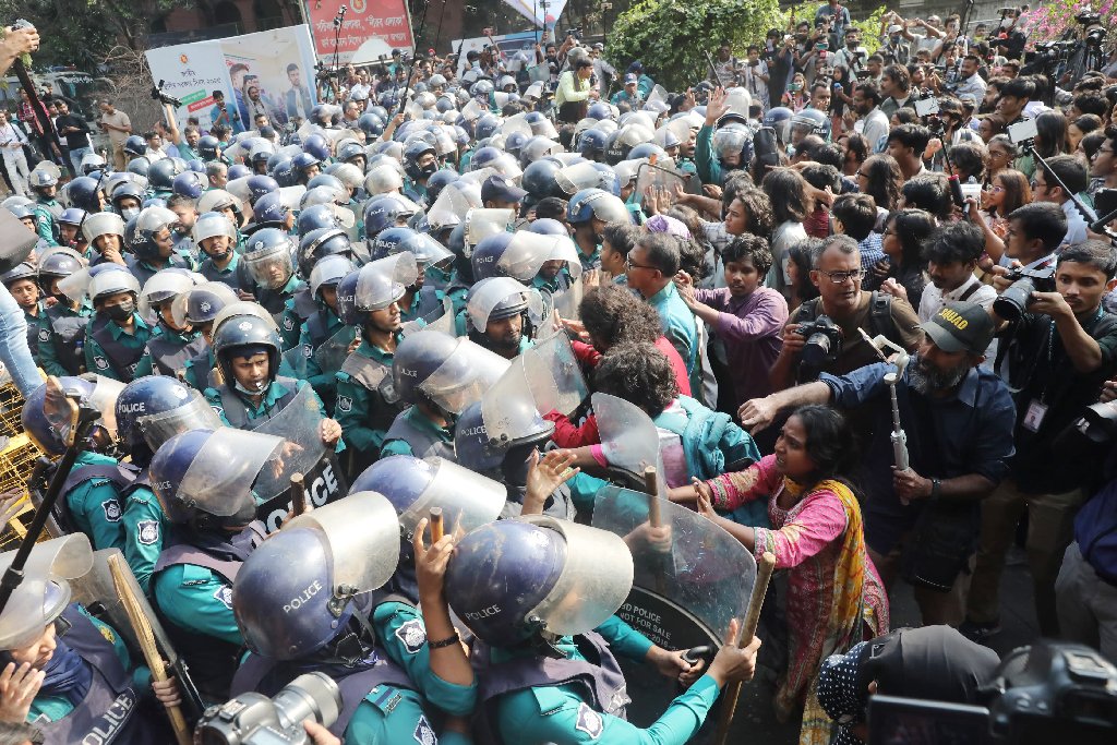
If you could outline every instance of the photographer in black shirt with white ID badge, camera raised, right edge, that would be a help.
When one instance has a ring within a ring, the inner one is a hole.
[[[1012,226],[1020,223],[1016,212],[1010,217],[1010,255]],[[1058,634],[1054,581],[1082,503],[1086,475],[1066,459],[1052,458],[1051,448],[1117,371],[1117,317],[1101,306],[1106,292],[1117,286],[1115,273],[1115,249],[1088,240],[1059,256],[1053,292],[1050,280],[1025,279],[993,304],[994,318],[1010,311],[1010,305],[1019,313],[1015,322],[1001,322],[996,360],[996,372],[1014,391],[1016,455],[1009,478],[982,506],[981,544],[963,627],[972,639],[987,638],[1000,629],[1001,572],[1025,510],[1040,633]],[[1024,307],[1020,307],[1022,300]]]

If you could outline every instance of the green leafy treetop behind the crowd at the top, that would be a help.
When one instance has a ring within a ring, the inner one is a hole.
[[[640,0],[617,18],[605,54],[619,70],[639,59],[657,83],[682,90],[708,76],[704,51],[728,40],[743,55],[781,23],[777,0]]]

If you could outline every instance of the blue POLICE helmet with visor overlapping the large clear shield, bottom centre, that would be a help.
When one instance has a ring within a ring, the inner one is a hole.
[[[470,531],[447,567],[446,599],[478,639],[515,647],[594,629],[624,602],[632,576],[620,536],[531,515]]]

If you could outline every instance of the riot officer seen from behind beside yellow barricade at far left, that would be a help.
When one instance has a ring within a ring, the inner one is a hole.
[[[57,398],[63,391],[79,392],[82,403],[101,410],[102,414],[114,413],[116,394],[123,385],[105,378],[92,378],[92,381],[84,378],[48,380],[27,398],[20,418],[39,450],[51,457],[66,450],[63,433],[69,427],[68,411],[58,405]],[[63,531],[84,533],[98,550],[124,547],[121,495],[136,475],[131,467],[98,452],[112,443],[107,420],[103,416],[94,426],[90,441],[74,461],[54,509],[54,517]]]

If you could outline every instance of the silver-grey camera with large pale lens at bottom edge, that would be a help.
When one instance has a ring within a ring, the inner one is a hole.
[[[210,706],[194,728],[197,745],[308,745],[303,722],[314,719],[324,727],[337,720],[342,694],[323,672],[300,675],[268,698],[241,694],[219,706]]]

